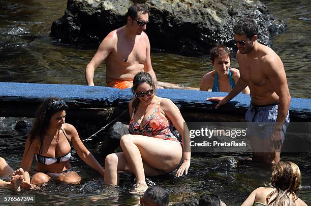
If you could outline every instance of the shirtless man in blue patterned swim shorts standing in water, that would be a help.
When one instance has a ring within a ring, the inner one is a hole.
[[[216,105],[219,108],[248,86],[251,91],[251,105],[245,119],[248,122],[258,122],[256,125],[247,124],[252,150],[257,160],[276,163],[279,161],[289,123],[291,102],[284,66],[272,49],[257,42],[258,27],[253,20],[239,20],[233,31],[238,48],[236,59],[240,78],[226,97],[212,97],[207,100],[219,102]]]

